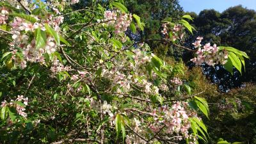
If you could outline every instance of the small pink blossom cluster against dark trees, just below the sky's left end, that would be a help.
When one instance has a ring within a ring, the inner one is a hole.
[[[168,23],[164,23],[162,25],[163,30],[161,31],[161,33],[163,33],[163,35],[165,35],[166,38],[168,38],[168,36],[169,36],[167,25],[168,25]],[[171,33],[170,38],[172,41],[176,41],[179,39],[181,40],[185,35],[185,33],[182,33],[182,26],[180,24],[176,24],[175,26],[173,26],[173,28],[170,29],[170,33]]]

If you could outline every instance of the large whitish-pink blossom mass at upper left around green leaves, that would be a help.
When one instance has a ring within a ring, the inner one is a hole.
[[[32,17],[35,16],[32,15]],[[10,44],[10,49],[13,53],[12,59],[16,63],[19,63],[21,68],[25,68],[28,61],[44,65],[44,54],[47,53],[51,55],[56,51],[58,46],[51,35],[46,35],[47,40],[44,47],[36,47],[36,39],[31,38],[31,35],[33,35],[38,28],[45,31],[45,24],[49,24],[49,26],[52,26],[57,32],[60,31],[59,25],[63,22],[63,17],[53,19],[52,15],[47,15],[47,19],[40,20],[38,17],[35,17],[35,19],[38,22],[32,23],[25,19],[15,17],[13,22],[10,23],[10,26],[12,26],[11,33],[13,33],[13,42]],[[19,51],[17,51],[17,47],[21,49],[23,54],[22,58],[18,55]]]

